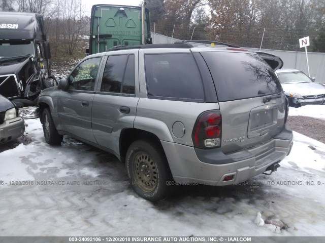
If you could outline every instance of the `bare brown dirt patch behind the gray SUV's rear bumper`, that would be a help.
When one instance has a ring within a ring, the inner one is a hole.
[[[325,143],[325,120],[308,116],[289,116],[286,125],[295,132]]]

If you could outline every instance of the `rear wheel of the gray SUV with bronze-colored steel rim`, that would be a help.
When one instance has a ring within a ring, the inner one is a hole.
[[[156,144],[133,142],[126,152],[125,166],[133,189],[141,197],[158,201],[173,192],[175,182],[166,155]]]

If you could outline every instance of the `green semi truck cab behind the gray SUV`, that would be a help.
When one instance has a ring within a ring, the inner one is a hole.
[[[114,46],[152,44],[150,13],[144,5],[93,5],[86,54],[105,52]]]

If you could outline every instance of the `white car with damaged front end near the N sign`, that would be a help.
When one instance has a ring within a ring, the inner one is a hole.
[[[278,69],[275,73],[290,106],[325,104],[325,86],[316,83],[314,78],[293,68]]]

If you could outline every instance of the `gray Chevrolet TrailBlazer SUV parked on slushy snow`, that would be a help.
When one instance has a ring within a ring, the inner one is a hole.
[[[90,55],[42,91],[45,140],[70,135],[115,154],[151,201],[176,183],[222,186],[272,173],[293,145],[273,70],[282,65],[267,53],[186,42]]]

